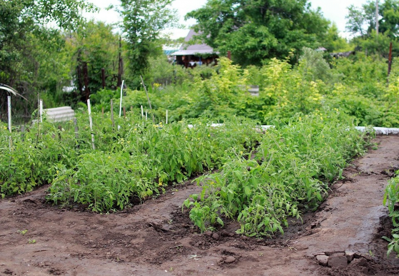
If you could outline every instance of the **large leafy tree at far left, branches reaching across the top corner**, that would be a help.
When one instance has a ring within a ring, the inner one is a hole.
[[[76,28],[84,21],[82,10],[94,7],[84,0],[0,1],[0,83],[16,88],[27,98],[42,90],[40,74],[52,71],[42,72],[41,65],[48,63],[50,52],[63,46],[60,29]],[[46,27],[47,23],[58,29]],[[18,107],[17,103],[13,102],[13,106]],[[32,106],[23,107],[29,113]],[[0,116],[5,109],[4,94],[0,96]]]

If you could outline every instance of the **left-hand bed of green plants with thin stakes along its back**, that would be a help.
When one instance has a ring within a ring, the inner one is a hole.
[[[255,122],[236,117],[213,128],[203,116],[189,128],[185,121],[154,125],[128,113],[116,121],[119,129],[109,117],[93,114],[91,132],[87,115],[80,114],[78,136],[72,122],[57,128],[44,120],[23,136],[9,134],[2,125],[2,197],[52,184],[47,199],[56,204],[76,202],[98,212],[123,208],[135,196],[160,193],[168,182],[219,167],[225,150],[246,152],[260,139]],[[92,133],[96,150],[91,148]]]

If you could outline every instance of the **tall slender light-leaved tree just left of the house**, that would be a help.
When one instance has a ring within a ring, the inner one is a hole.
[[[139,75],[148,67],[148,58],[161,53],[161,31],[176,24],[176,11],[170,8],[173,0],[121,0],[120,13],[127,43],[130,80],[138,86]]]

